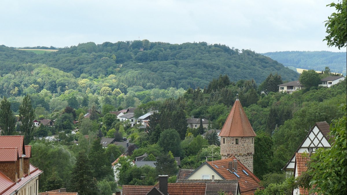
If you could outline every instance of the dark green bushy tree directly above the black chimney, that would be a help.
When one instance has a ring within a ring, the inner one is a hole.
[[[178,167],[174,155],[171,151],[167,154],[159,156],[158,161],[155,164],[155,169],[161,175],[173,176],[177,174]]]

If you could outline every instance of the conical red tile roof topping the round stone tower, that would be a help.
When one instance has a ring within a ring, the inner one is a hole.
[[[237,94],[238,95],[238,94]],[[222,137],[255,137],[256,134],[248,121],[245,111],[238,99],[231,108],[229,116],[219,134]]]

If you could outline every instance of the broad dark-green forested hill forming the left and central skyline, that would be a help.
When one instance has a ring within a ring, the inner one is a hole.
[[[128,87],[139,85],[147,89],[203,88],[220,74],[227,74],[231,81],[253,78],[258,84],[270,73],[278,73],[288,81],[298,78],[297,73],[269,57],[205,42],[170,44],[143,40],[98,45],[88,42],[44,54],[0,46],[1,76],[26,70],[27,66],[23,66],[26,63],[46,64],[76,78],[113,74]]]

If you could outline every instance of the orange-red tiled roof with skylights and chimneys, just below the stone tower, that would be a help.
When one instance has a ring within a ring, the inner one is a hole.
[[[217,171],[221,176],[223,176],[227,180],[238,180],[240,191],[242,194],[250,193],[251,191],[255,191],[257,188],[261,188],[259,182],[259,178],[257,178],[251,171],[249,171],[240,161],[237,159],[237,175],[240,176],[238,178],[234,173],[230,172],[229,162],[236,159],[234,156],[231,156],[227,159],[217,160],[217,161],[209,161],[207,162],[215,171]],[[213,163],[213,164],[212,164]],[[216,166],[218,167],[216,167]],[[245,170],[249,176],[246,175],[242,170]]]

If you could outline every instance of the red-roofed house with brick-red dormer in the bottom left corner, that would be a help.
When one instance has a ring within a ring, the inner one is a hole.
[[[24,136],[0,136],[0,194],[34,195],[43,172],[30,164],[31,146]]]

